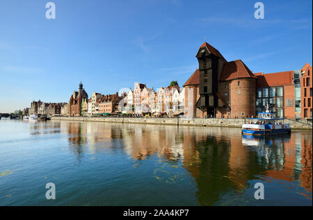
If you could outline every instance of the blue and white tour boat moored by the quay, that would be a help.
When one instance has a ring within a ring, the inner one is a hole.
[[[282,122],[279,122],[282,121]],[[249,119],[242,125],[243,135],[283,135],[291,133],[290,124],[284,119],[275,118],[272,112],[259,112],[257,118]]]

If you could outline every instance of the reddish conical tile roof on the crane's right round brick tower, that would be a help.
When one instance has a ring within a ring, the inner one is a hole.
[[[236,78],[257,78],[252,71],[242,62],[242,60],[234,60],[225,63],[220,81],[231,81]]]

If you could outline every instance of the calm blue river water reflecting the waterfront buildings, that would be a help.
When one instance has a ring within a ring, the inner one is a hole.
[[[312,130],[2,119],[0,205],[312,205]]]

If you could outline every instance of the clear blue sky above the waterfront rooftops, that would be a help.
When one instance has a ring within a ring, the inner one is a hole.
[[[67,102],[79,82],[89,95],[134,82],[179,85],[198,67],[204,39],[226,60],[271,73],[312,65],[312,1],[0,1],[0,112],[32,100]]]

